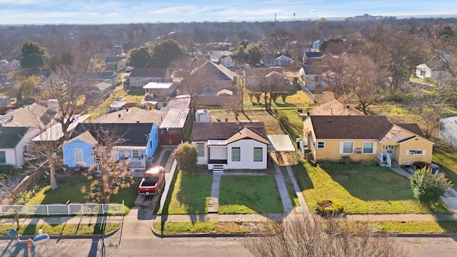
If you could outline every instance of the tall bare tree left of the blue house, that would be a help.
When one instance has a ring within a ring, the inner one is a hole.
[[[49,99],[53,99],[56,104],[55,110],[46,113],[48,122],[37,121],[37,127],[40,131],[59,130],[54,133],[60,133],[60,136],[54,138],[52,133],[42,134],[39,141],[32,143],[34,151],[28,158],[31,161],[31,168],[35,170],[43,167],[49,168],[51,189],[53,190],[57,188],[56,167],[62,163],[61,146],[71,134],[69,127],[78,122],[79,117],[87,114],[94,106],[94,96],[90,89],[93,83],[92,76],[93,74],[86,66],[61,65],[49,79],[41,84],[41,94],[36,98],[36,101],[43,106],[50,104]],[[44,117],[39,117],[39,119],[44,119]],[[54,124],[60,124],[60,127],[53,127]]]

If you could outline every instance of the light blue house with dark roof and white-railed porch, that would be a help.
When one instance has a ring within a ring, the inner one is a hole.
[[[71,138],[64,143],[64,164],[69,167],[93,166],[96,146],[103,146],[104,133],[111,132],[119,140],[111,156],[118,161],[130,159],[129,168],[145,168],[159,147],[159,126],[154,123],[78,124]]]

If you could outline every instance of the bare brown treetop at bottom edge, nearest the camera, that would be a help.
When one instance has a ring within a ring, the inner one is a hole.
[[[369,223],[348,223],[336,217],[319,220],[303,214],[269,226],[273,229],[243,240],[254,256],[408,256]]]

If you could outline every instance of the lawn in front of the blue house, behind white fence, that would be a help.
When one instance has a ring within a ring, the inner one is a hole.
[[[126,213],[129,213],[134,206],[137,189],[141,178],[134,178],[134,183],[128,188],[119,188],[119,193],[111,196],[110,203],[122,203],[124,200]],[[87,203],[91,202],[81,193],[82,186],[89,186],[90,181],[86,177],[58,178],[58,188],[55,191],[45,191],[44,188],[39,191],[33,198],[27,201],[27,204],[50,204],[50,203]]]

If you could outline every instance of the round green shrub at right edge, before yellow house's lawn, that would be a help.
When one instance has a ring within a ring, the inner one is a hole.
[[[447,181],[444,173],[433,173],[431,168],[423,167],[416,170],[409,178],[413,197],[424,206],[440,201],[450,188],[451,181]]]

